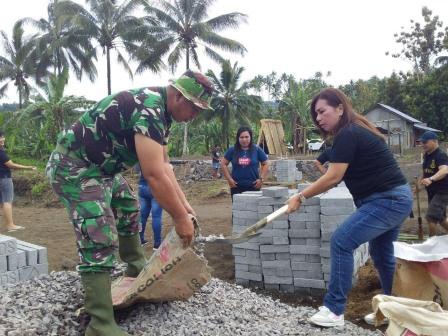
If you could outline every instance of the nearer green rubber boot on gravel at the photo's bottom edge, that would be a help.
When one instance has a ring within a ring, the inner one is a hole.
[[[81,273],[81,279],[85,292],[84,307],[91,317],[85,335],[129,336],[115,322],[109,273]]]

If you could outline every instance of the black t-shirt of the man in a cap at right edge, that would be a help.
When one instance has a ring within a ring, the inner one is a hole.
[[[437,148],[431,154],[425,154],[423,159],[423,177],[427,178],[433,176],[439,171],[440,166],[448,166],[448,156]],[[434,181],[426,187],[428,195],[436,193],[448,193],[448,176],[445,176],[439,181]]]

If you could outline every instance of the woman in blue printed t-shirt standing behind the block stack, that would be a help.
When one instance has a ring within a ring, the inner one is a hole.
[[[222,172],[229,183],[232,199],[235,194],[260,190],[263,179],[268,174],[268,157],[252,142],[252,138],[252,130],[249,127],[240,127],[236,132],[235,146],[227,150],[221,161]],[[230,162],[232,174],[228,168]]]

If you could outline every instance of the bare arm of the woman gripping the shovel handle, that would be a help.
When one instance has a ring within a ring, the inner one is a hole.
[[[310,198],[333,188],[342,180],[347,168],[348,163],[330,163],[327,172],[299,194],[302,194],[305,198]],[[299,194],[288,200],[288,213],[296,211],[300,207]]]

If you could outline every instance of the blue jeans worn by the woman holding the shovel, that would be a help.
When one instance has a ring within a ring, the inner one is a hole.
[[[384,294],[390,295],[395,271],[393,242],[412,209],[412,193],[405,184],[355,201],[357,210],[333,233],[331,273],[324,306],[334,314],[345,310],[352,287],[353,251],[369,242],[369,253],[378,270]]]

